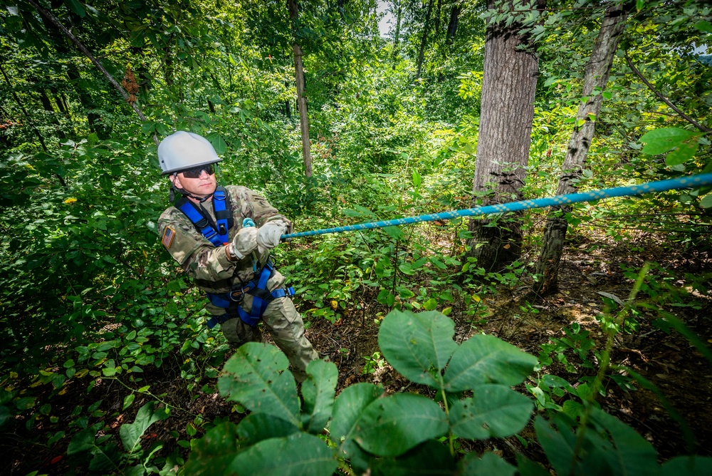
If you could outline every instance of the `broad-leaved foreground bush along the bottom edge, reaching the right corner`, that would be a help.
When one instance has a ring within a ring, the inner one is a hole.
[[[453,321],[435,311],[392,311],[379,329],[384,358],[413,383],[436,390],[436,401],[386,395],[371,383],[334,398],[337,370],[325,361],[308,366],[300,400],[286,357],[273,346],[245,344],[226,363],[219,389],[251,414],[238,425],[209,430],[194,445],[186,471],[300,475],[308,468],[330,475],[347,464],[372,475],[547,474],[521,455],[518,467],[492,452],[456,458],[456,439],[507,438],[523,430],[533,403],[511,386],[527,378],[536,359],[493,336],[475,335],[461,345],[453,336]],[[704,457],[659,467],[650,443],[589,401],[584,398],[579,422],[563,412],[534,420],[558,474],[650,475],[674,468],[703,474],[712,467],[712,458]]]

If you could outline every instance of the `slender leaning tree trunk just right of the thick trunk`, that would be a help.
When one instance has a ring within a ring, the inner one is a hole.
[[[608,82],[626,17],[627,12],[623,11],[620,4],[609,6],[604,14],[598,38],[586,65],[583,82],[585,100],[579,105],[556,195],[574,193],[577,190],[576,182],[585,166],[603,102],[601,93]],[[595,90],[599,92],[592,94]],[[538,294],[549,294],[557,287],[561,254],[568,227],[565,216],[571,212],[571,209],[571,206],[552,207],[548,213],[544,244],[535,267],[535,273],[540,275],[539,280],[534,284],[534,291]]]

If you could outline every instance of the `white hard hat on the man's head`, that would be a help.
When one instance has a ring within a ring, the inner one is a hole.
[[[158,162],[163,171],[162,175],[199,165],[214,164],[221,160],[206,138],[184,130],[172,133],[158,145]]]

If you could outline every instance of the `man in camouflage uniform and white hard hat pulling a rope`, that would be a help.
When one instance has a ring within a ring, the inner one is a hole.
[[[219,228],[212,199],[217,189],[213,167],[221,159],[212,145],[197,134],[179,131],[162,141],[158,157],[163,175],[169,175],[171,180],[171,198],[174,192],[179,192],[214,229]],[[177,207],[166,209],[158,224],[164,247],[200,289],[221,296],[233,292],[233,296],[239,297],[232,300],[230,309],[210,301],[206,309],[220,323],[227,340],[241,346],[261,341],[262,334],[256,324],[248,324],[235,312],[235,301],[250,313],[254,297],[241,290],[249,281],[258,279],[268,262],[270,249],[279,244],[281,234],[291,232],[292,224],[264,197],[246,187],[229,185],[224,191],[231,214],[229,239],[225,243],[216,245],[209,241]],[[284,276],[273,270],[266,291],[284,289],[284,281]],[[307,364],[318,358],[318,354],[304,336],[302,318],[291,299],[283,296],[268,301],[261,321],[288,357],[296,380],[303,381]]]

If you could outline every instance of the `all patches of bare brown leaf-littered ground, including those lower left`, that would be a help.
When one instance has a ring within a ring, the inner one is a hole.
[[[487,306],[488,313],[486,319],[476,324],[468,320],[471,318],[466,316],[464,304],[454,302],[450,317],[455,322],[456,341],[461,342],[473,333],[484,332],[503,338],[523,351],[538,356],[542,344],[550,342],[552,338],[564,336],[563,328],[576,322],[582,330],[589,331],[590,336],[602,346],[604,336],[595,319],[603,309],[602,296],[599,293],[614,294],[626,300],[633,286],[632,279],[623,275],[622,264],[638,269],[644,260],[654,260],[664,267],[675,269],[679,276],[684,276],[685,272],[700,275],[712,271],[712,261],[706,254],[696,254],[694,257],[679,254],[671,257],[669,252],[658,254],[652,251],[648,243],[646,256],[642,256],[629,252],[630,244],[617,246],[610,242],[600,246],[601,239],[604,237],[597,237],[594,243],[582,237],[574,237],[573,242],[567,243],[560,269],[560,291],[545,299],[533,301],[528,296],[530,283],[522,281],[520,286],[485,295],[483,304]],[[364,294],[359,296],[359,301],[377,303],[376,294],[377,291],[373,289],[365,289]],[[712,298],[697,291],[693,294],[693,298],[701,304],[701,309],[683,306],[669,308],[669,311],[689,326],[703,342],[712,342],[712,320],[709,319]],[[527,306],[527,302],[533,306]],[[523,312],[520,306],[530,311]],[[533,309],[535,311],[532,311]],[[308,327],[307,336],[320,355],[333,361],[339,370],[337,394],[353,383],[372,382],[382,385],[390,393],[411,391],[434,396],[430,395],[432,391],[429,388],[411,385],[387,363],[374,356],[374,353],[379,351],[379,319],[382,319],[387,311],[388,309],[378,304],[365,304],[357,311],[345,311],[335,324],[318,319]],[[676,331],[666,333],[654,327],[654,319],[656,316],[639,316],[639,330],[632,335],[619,336],[616,339],[612,363],[629,366],[654,383],[690,425],[697,440],[694,451],[701,455],[712,455],[712,366],[684,336]],[[570,382],[577,381],[580,376],[595,374],[595,369],[577,365],[576,359],[572,358],[573,354],[567,355],[570,362],[575,364],[576,372],[566,371],[564,366],[556,362],[545,368],[544,372],[554,373]],[[375,363],[372,373],[364,371],[368,359]],[[240,413],[234,412],[233,404],[226,402],[218,393],[198,392],[191,398],[185,383],[175,374],[175,368],[172,371],[170,368],[171,366],[164,365],[162,369],[148,371],[145,382],[151,383],[151,390],[155,395],[166,395],[169,403],[182,410],[174,410],[171,418],[152,425],[146,437],[147,444],[162,440],[166,442],[164,454],[167,454],[165,451],[175,447],[177,442],[169,433],[177,431],[181,439],[187,439],[186,428],[195,415],[202,415],[207,421],[225,417],[238,421],[241,418]],[[206,379],[201,385],[204,383],[215,388],[216,379]],[[634,390],[623,390],[616,383],[607,381],[606,395],[599,398],[602,408],[631,425],[649,440],[659,452],[661,460],[688,454],[681,427],[665,410],[661,400],[651,391],[639,388],[634,383],[632,385]],[[523,386],[520,390],[524,390]],[[121,412],[121,403],[126,395],[127,389],[120,385],[97,386],[90,394],[86,393],[84,388],[75,388],[75,391],[65,395],[66,410],[69,412],[74,405],[89,405],[102,398],[100,410],[106,412],[107,423],[118,433],[120,423],[132,422],[136,410],[150,400],[149,397],[142,399],[139,396],[129,409]],[[562,404],[561,401],[557,403]],[[61,408],[61,402],[55,401],[53,405],[58,410]],[[12,475],[26,475],[32,470],[39,470],[42,474],[73,472],[67,466],[66,459],[60,457],[66,452],[69,438],[63,438],[63,441],[53,448],[43,448],[40,445],[31,447],[24,443],[34,440],[33,436],[36,434],[33,433],[40,431],[44,431],[41,425],[24,434],[18,432],[14,435],[4,435],[1,446],[9,459],[0,467],[0,472]],[[525,428],[522,435],[524,440],[534,439],[531,424]],[[9,452],[6,451],[8,448]],[[545,464],[545,457],[538,445],[523,445],[521,440],[516,438],[476,443],[466,450],[493,450],[510,460],[514,459],[515,452],[522,452],[530,459]],[[30,454],[33,457],[29,457]]]

